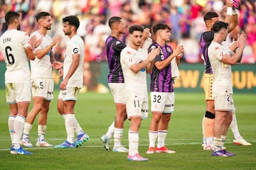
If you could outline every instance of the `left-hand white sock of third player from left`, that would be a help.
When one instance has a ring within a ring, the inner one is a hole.
[[[67,114],[64,117],[65,117],[65,129],[67,132],[67,140],[72,144],[74,143],[74,136],[75,136],[75,115]]]

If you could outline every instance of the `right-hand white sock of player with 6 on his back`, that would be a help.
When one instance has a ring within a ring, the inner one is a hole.
[[[16,115],[16,118],[14,120],[14,149],[18,149],[21,142],[21,136],[22,136],[22,130],[24,127],[25,118],[23,115]]]

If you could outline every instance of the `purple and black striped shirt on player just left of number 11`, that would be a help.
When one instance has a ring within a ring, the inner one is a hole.
[[[124,83],[124,75],[122,73],[122,67],[120,63],[120,53],[126,47],[126,45],[114,38],[109,36],[106,40],[106,50],[107,50],[107,62],[110,73],[108,75],[109,83]]]

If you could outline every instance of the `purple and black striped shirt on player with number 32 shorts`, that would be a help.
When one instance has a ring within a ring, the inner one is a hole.
[[[162,47],[156,42],[149,46],[149,52],[151,52],[152,46],[161,47],[161,52],[156,56],[154,62],[166,60],[173,52],[171,46],[165,45]],[[171,79],[171,63],[161,71],[154,65],[151,72],[150,91],[174,92],[174,80]]]

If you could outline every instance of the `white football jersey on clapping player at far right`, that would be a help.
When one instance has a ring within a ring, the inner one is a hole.
[[[232,71],[230,64],[225,64],[220,60],[230,50],[225,45],[217,42],[211,42],[208,47],[208,57],[213,69],[213,96],[223,96],[224,94],[233,94],[232,89]]]

